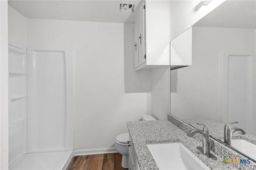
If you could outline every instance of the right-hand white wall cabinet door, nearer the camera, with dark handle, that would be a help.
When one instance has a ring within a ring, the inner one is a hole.
[[[146,62],[145,59],[145,3],[142,4],[138,15],[138,46],[139,46],[139,65]]]

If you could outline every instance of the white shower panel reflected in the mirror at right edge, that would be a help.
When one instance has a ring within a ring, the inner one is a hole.
[[[256,134],[256,56],[228,57],[228,122],[239,121],[240,128]]]

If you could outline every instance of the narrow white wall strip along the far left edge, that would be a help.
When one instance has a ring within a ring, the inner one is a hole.
[[[8,4],[0,1],[0,169],[8,169]]]

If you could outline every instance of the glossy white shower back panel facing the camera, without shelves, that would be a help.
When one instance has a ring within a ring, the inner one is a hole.
[[[28,153],[71,150],[67,55],[54,50],[28,49],[27,53]]]

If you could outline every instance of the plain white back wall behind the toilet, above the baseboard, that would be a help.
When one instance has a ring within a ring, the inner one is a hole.
[[[114,147],[126,121],[151,113],[150,72],[133,69],[133,32],[133,24],[28,19],[28,46],[74,51],[75,150]]]

